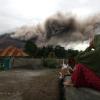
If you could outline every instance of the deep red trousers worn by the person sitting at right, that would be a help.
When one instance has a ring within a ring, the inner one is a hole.
[[[89,87],[100,90],[100,77],[83,64],[75,66],[71,79],[76,87]]]

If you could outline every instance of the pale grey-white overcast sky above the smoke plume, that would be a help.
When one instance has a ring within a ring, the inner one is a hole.
[[[58,11],[84,18],[100,12],[100,0],[0,0],[0,33],[41,22]]]

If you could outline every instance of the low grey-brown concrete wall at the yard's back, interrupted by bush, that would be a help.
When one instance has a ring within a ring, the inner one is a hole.
[[[63,59],[56,59],[60,67]],[[44,68],[42,59],[34,58],[14,58],[13,68],[41,69]]]

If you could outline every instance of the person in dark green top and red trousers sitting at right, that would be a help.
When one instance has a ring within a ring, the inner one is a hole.
[[[100,35],[96,35],[90,46],[77,55],[71,80],[66,80],[64,85],[100,90]]]

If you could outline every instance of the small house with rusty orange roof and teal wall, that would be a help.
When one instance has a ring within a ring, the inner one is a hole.
[[[0,69],[9,70],[12,68],[14,57],[28,56],[22,49],[9,46],[4,50],[0,50]]]

